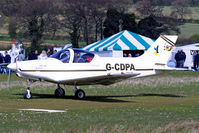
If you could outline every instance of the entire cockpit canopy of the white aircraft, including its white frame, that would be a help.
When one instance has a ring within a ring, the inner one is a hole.
[[[51,58],[56,58],[63,63],[90,63],[94,56],[95,55],[93,53],[84,50],[63,49],[53,54]]]

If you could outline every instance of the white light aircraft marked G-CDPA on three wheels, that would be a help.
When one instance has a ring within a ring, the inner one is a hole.
[[[109,85],[130,77],[138,78],[176,70],[167,66],[177,36],[161,35],[141,56],[135,58],[99,57],[79,49],[61,50],[47,60],[31,60],[11,63],[8,68],[21,78],[29,79],[25,99],[32,98],[33,81],[57,84],[57,97],[65,95],[60,85],[73,85],[75,97],[85,98],[81,85]]]

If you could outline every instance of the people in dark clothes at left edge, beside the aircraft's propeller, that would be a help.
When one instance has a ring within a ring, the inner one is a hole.
[[[0,65],[0,74],[4,72],[6,72],[7,74],[9,73],[9,69],[6,64],[9,64],[11,62],[11,57],[7,51],[5,51],[4,54],[5,55],[3,56],[3,54],[0,53],[0,64],[5,64],[5,65]]]

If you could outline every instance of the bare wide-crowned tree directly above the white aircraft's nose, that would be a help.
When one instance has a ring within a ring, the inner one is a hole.
[[[33,47],[38,47],[48,24],[53,19],[53,3],[51,0],[26,0],[26,8],[22,9],[22,33],[31,40]]]

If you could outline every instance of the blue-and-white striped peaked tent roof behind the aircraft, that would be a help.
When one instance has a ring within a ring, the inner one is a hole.
[[[125,30],[85,46],[82,49],[96,52],[108,50],[145,50],[153,43],[154,40],[148,37]]]

